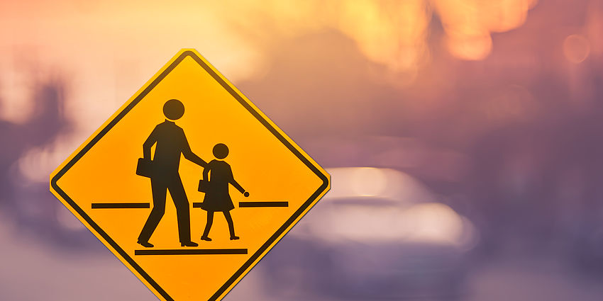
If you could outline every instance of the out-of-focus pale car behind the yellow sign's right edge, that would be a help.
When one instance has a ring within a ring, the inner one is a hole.
[[[449,298],[472,223],[394,169],[329,169],[331,191],[270,251],[266,290],[299,300]],[[448,300],[448,299],[447,299]]]

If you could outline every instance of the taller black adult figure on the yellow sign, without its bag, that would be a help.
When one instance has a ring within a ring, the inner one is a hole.
[[[155,156],[153,156],[153,174],[150,177],[153,191],[153,209],[138,236],[138,244],[148,248],[153,247],[153,244],[150,244],[148,240],[165,213],[165,198],[167,191],[170,191],[176,206],[180,244],[182,246],[198,246],[198,244],[191,242],[189,200],[178,174],[180,155],[184,155],[184,158],[200,166],[205,167],[207,164],[191,151],[184,130],[172,121],[178,120],[184,115],[184,105],[177,99],[171,99],[163,106],[163,114],[167,119],[155,127],[155,130],[151,132],[143,144],[145,159],[151,158],[153,144],[157,144],[157,146],[155,147]]]

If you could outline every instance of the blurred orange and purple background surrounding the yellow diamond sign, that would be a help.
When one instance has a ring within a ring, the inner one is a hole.
[[[154,300],[48,176],[194,47],[332,176],[226,300],[603,300],[603,1],[0,2],[0,300]]]

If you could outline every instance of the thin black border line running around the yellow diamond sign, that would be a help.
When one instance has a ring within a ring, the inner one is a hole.
[[[208,72],[211,75],[211,77],[216,79],[216,81],[218,81],[218,83],[224,89],[226,89],[226,91],[228,91],[228,93],[231,93],[231,95],[234,98],[236,98],[236,100],[241,105],[243,105],[243,107],[245,107],[256,119],[258,119],[260,121],[260,123],[262,123],[262,125],[264,125],[268,130],[270,130],[270,132],[272,132],[272,135],[275,135],[275,137],[277,137],[278,140],[280,140],[280,142],[282,142],[293,154],[295,154],[296,157],[298,157],[300,160],[302,160],[302,162],[304,162],[304,164],[306,164],[306,166],[308,166],[309,169],[311,169],[311,171],[313,171],[314,174],[316,174],[316,176],[318,176],[323,181],[321,186],[310,196],[310,198],[308,200],[306,200],[306,202],[304,202],[302,207],[300,207],[297,211],[295,211],[294,214],[292,215],[292,217],[289,217],[287,222],[285,222],[284,225],[282,225],[282,227],[277,229],[277,232],[275,232],[275,234],[272,234],[270,239],[268,239],[268,241],[265,244],[260,246],[260,249],[258,249],[258,251],[256,251],[250,257],[250,259],[248,261],[245,261],[243,266],[241,266],[234,273],[234,275],[231,278],[228,278],[226,283],[224,283],[224,285],[222,285],[221,288],[219,288],[218,291],[209,298],[209,301],[214,301],[214,300],[217,300],[218,297],[220,297],[226,290],[228,290],[228,288],[233,283],[235,283],[236,280],[241,275],[243,275],[243,273],[245,273],[245,271],[253,264],[253,262],[256,261],[258,258],[260,258],[260,256],[262,256],[262,254],[265,253],[265,251],[268,249],[268,247],[270,247],[270,245],[272,243],[274,243],[278,239],[278,237],[280,237],[280,235],[289,226],[291,226],[292,223],[295,220],[297,220],[297,218],[300,215],[302,215],[302,213],[312,203],[314,203],[314,200],[316,200],[316,198],[318,198],[319,195],[321,195],[321,193],[323,193],[326,190],[326,188],[328,188],[328,178],[325,174],[322,174],[321,171],[318,168],[316,168],[316,166],[314,166],[314,164],[311,163],[311,161],[309,161],[306,157],[304,157],[304,155],[301,152],[299,152],[299,150],[297,150],[285,137],[283,137],[283,135],[281,135],[280,132],[278,132],[278,130],[276,130],[275,127],[270,125],[270,123],[265,118],[263,118],[262,115],[260,115],[260,113],[258,113],[258,111],[256,111],[252,106],[250,106],[250,104],[247,101],[245,101],[243,99],[243,97],[241,97],[239,95],[239,93],[237,93],[230,85],[228,85],[228,83],[226,83],[226,81],[224,81],[224,79],[222,79],[221,76],[216,74],[216,72],[214,72],[214,70],[211,69],[211,67],[209,67],[201,58],[199,58],[199,56],[197,56],[197,54],[195,54],[194,52],[192,52],[190,50],[182,52],[182,54],[179,55],[179,57],[177,57],[177,59],[175,59],[175,61],[172,62],[172,64],[170,64],[170,66],[168,66],[159,76],[157,76],[157,78],[151,84],[149,84],[149,86],[147,86],[146,89],[144,89],[140,94],[138,94],[138,96],[136,96],[136,98],[116,116],[116,118],[111,120],[111,122],[108,125],[106,125],[106,127],[104,127],[104,129],[101,130],[101,132],[99,132],[98,135],[96,135],[88,144],[86,144],[86,146],[83,147],[82,150],[79,151],[73,157],[73,159],[71,159],[67,164],[65,164],[65,166],[59,172],[57,172],[57,174],[54,177],[52,177],[52,180],[50,181],[50,186],[52,186],[52,188],[54,188],[55,191],[59,195],[61,195],[62,198],[64,198],[65,201],[67,201],[67,203],[69,203],[72,206],[72,208],[80,216],[82,216],[84,218],[84,220],[86,220],[89,223],[89,225],[92,226],[92,228],[94,230],[96,230],[96,232],[98,232],[101,235],[101,237],[103,237],[106,240],[106,242],[108,242],[117,251],[118,254],[120,254],[123,257],[123,259],[126,259],[126,261],[128,263],[130,263],[130,265],[138,273],[140,273],[140,275],[143,276],[143,278],[145,278],[145,280],[147,280],[148,283],[150,283],[150,285],[152,285],[153,288],[155,288],[155,290],[157,290],[158,293],[160,293],[166,300],[174,300],[172,297],[170,297],[170,295],[167,294],[167,292],[165,292],[165,290],[163,290],[160,287],[160,285],[158,285],[155,282],[155,280],[153,280],[153,278],[151,278],[143,270],[143,268],[140,268],[140,266],[138,266],[138,264],[131,258],[131,256],[129,256],[126,253],[126,251],[123,251],[123,249],[121,249],[121,247],[118,246],[118,244],[116,244],[116,242],[114,242],[114,240],[111,239],[111,237],[109,237],[109,235],[106,234],[106,232],[104,232],[104,230],[101,229],[101,227],[99,227],[99,225],[96,225],[96,223],[86,214],[86,212],[84,212],[84,210],[82,210],[82,208],[79,208],[79,206],[69,197],[69,195],[67,195],[67,193],[65,193],[65,191],[62,191],[62,189],[57,185],[57,181],[67,172],[67,170],[69,170],[79,159],[81,159],[84,156],[84,154],[86,154],[94,146],[94,144],[96,144],[96,142],[99,142],[99,140],[101,140],[101,138],[107,132],[109,132],[109,130],[111,130],[111,128],[114,127],[119,122],[119,120],[121,120],[121,118],[123,118],[123,116],[125,116],[130,110],[132,110],[132,108],[134,108],[134,106],[136,106],[136,104],[138,104],[151,90],[153,90],[153,88],[155,88],[155,86],[157,86],[157,84],[159,84],[160,81],[162,81],[162,79],[164,79],[165,76],[167,76],[167,74],[170,74],[170,72],[172,72],[172,70],[180,62],[182,62],[186,57],[191,57],[192,59],[195,60],[195,62],[197,62],[199,65],[201,65],[201,67],[203,67],[203,69],[205,69],[205,71]]]

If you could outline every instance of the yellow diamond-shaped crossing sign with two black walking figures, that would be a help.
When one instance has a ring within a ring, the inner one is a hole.
[[[161,300],[221,300],[329,182],[181,50],[50,175],[50,191]]]

